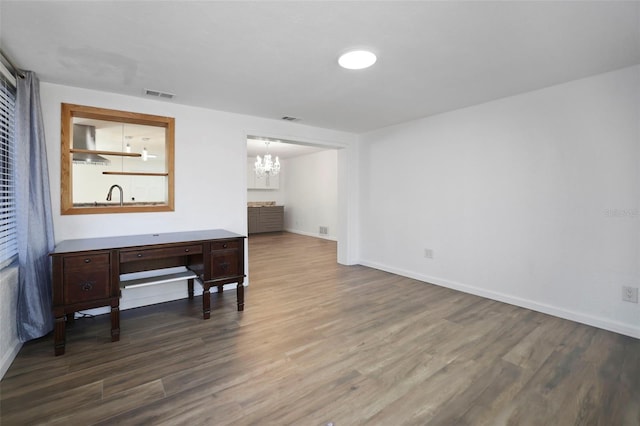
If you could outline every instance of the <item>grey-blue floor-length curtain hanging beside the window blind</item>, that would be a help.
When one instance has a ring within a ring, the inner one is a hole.
[[[17,80],[16,211],[18,226],[18,337],[35,339],[53,330],[51,261],[54,248],[49,171],[40,82],[33,72]]]

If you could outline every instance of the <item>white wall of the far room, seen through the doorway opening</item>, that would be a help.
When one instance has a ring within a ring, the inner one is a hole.
[[[286,173],[284,228],[336,240],[338,152],[332,149],[286,159],[282,161],[282,170]],[[319,226],[326,226],[328,235],[320,235]]]

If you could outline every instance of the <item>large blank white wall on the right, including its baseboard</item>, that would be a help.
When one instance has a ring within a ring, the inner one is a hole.
[[[362,135],[362,263],[640,337],[639,123],[635,66]]]

